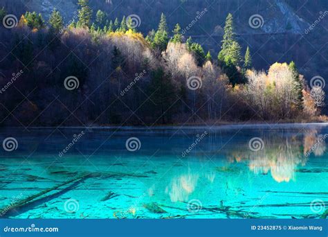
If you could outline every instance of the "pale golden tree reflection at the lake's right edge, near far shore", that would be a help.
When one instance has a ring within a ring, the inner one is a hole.
[[[318,135],[318,130],[307,130],[304,139],[298,136],[266,136],[263,138],[264,149],[253,152],[246,146],[243,151],[232,152],[233,161],[246,162],[255,174],[267,174],[277,182],[289,182],[295,178],[297,166],[307,162],[305,154],[313,151],[313,155],[321,156],[326,150],[325,139]],[[303,154],[301,146],[303,146]],[[230,156],[231,157],[231,156]]]

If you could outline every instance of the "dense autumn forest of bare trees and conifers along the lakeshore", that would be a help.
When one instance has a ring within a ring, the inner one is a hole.
[[[3,7],[0,20],[2,124],[322,119],[322,78],[308,86],[293,61],[253,69],[252,52],[239,44],[232,14],[216,53],[186,39],[179,22],[170,28],[164,14],[143,35],[138,15],[111,19],[87,0],[78,0],[69,23],[56,9],[46,21],[37,12],[15,19]]]

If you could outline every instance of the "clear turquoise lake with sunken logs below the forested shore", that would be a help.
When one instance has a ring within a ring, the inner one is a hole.
[[[17,140],[0,147],[2,218],[325,218],[328,207],[326,125],[0,134]]]

